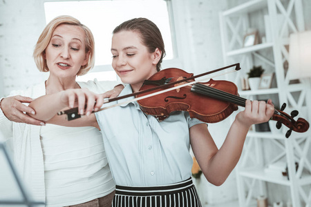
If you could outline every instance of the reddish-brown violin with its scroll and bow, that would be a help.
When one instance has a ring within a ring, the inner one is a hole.
[[[240,69],[238,63],[232,66],[236,66],[236,70]],[[166,119],[171,112],[178,110],[188,111],[190,117],[206,123],[223,121],[232,112],[238,110],[238,106],[245,107],[246,99],[238,95],[237,86],[230,81],[209,79],[209,81],[202,83],[196,81],[195,78],[223,70],[224,68],[196,76],[193,73],[188,73],[178,68],[160,70],[160,72],[144,81],[139,92],[109,99],[108,102],[135,96],[135,99],[126,102],[138,101],[142,112],[155,116],[159,121]],[[113,106],[119,106],[123,103],[117,103]],[[113,106],[104,107],[100,110]],[[298,111],[294,110],[290,116],[283,112],[285,106],[286,104],[284,103],[281,110],[274,109],[272,120],[277,121],[276,128],[281,128],[282,124],[287,126],[289,128],[285,135],[287,138],[290,137],[292,130],[295,132],[306,132],[309,128],[308,121],[305,121],[303,118],[295,121],[294,117],[298,115]],[[58,113],[58,115],[62,114],[67,114],[68,120],[81,117],[78,115],[77,108]]]

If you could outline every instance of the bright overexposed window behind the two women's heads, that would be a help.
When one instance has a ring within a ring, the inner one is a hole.
[[[128,19],[146,17],[156,23],[162,32],[165,43],[165,61],[173,60],[174,37],[170,25],[171,1],[164,0],[115,0],[115,1],[50,1],[44,3],[46,23],[59,15],[70,15],[91,29],[95,38],[95,68],[79,81],[94,79],[117,80],[111,67],[111,37],[113,29]],[[175,52],[175,53],[174,53]]]

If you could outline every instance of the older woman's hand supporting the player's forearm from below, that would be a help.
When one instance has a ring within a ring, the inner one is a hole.
[[[44,125],[44,121],[34,119],[29,115],[25,114],[35,114],[35,110],[23,103],[30,103],[32,99],[30,97],[23,97],[20,95],[13,97],[6,97],[1,100],[0,108],[3,114],[10,120],[19,123],[33,124],[33,125]]]

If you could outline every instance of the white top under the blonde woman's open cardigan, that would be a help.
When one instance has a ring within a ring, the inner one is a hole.
[[[82,204],[115,189],[101,132],[94,127],[41,127],[46,206]]]

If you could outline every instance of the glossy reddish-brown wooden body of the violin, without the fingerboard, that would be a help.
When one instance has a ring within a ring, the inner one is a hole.
[[[160,70],[160,72],[150,77],[148,79],[148,84],[144,83],[140,90],[147,90],[155,87],[157,81],[163,77],[164,79],[171,78],[171,81],[179,81],[180,79],[187,79],[193,76],[192,73],[187,73],[178,68]],[[189,81],[194,81],[194,79],[189,79]],[[201,84],[223,90],[232,95],[238,95],[238,88],[234,83],[229,81],[215,81],[210,79],[208,82]],[[153,90],[153,92],[160,90],[163,89]],[[138,95],[138,97],[139,96],[140,95]],[[170,113],[173,111],[185,110],[189,112],[190,117],[207,123],[223,121],[229,117],[234,110],[238,109],[238,106],[234,103],[191,92],[190,86],[164,92],[154,96],[153,99],[141,99],[138,103],[145,114],[156,116],[159,120],[169,117]]]

